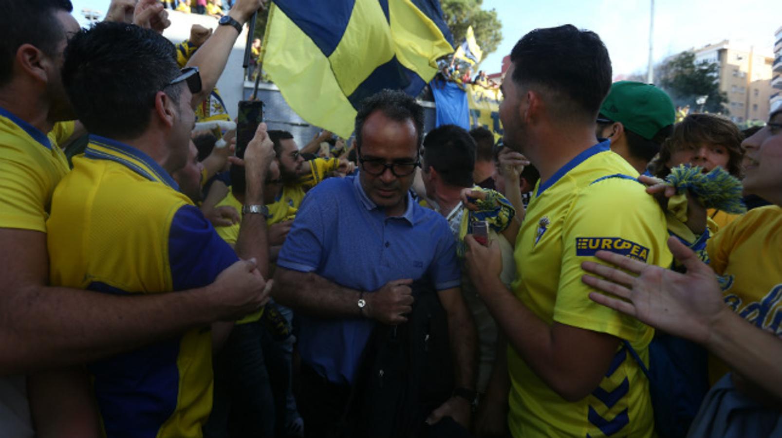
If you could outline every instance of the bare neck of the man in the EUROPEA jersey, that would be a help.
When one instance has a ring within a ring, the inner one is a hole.
[[[561,167],[596,143],[594,126],[563,127],[533,139],[528,158],[540,172],[540,181],[546,182]]]

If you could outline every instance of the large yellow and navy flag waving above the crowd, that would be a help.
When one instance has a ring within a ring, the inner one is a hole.
[[[261,56],[292,110],[348,138],[364,98],[418,95],[450,41],[437,0],[274,0]]]

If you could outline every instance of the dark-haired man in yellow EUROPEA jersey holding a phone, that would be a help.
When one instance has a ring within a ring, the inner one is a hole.
[[[512,290],[497,245],[468,236],[470,277],[508,336],[513,436],[654,436],[644,361],[654,331],[592,303],[581,263],[598,249],[667,266],[665,216],[595,120],[611,85],[597,34],[565,25],[526,34],[502,84],[504,143],[540,171],[515,246]]]

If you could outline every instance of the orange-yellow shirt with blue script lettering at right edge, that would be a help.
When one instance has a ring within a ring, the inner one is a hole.
[[[706,249],[725,303],[759,329],[782,334],[782,208],[749,210],[709,239]],[[730,371],[713,356],[708,368],[712,383]]]

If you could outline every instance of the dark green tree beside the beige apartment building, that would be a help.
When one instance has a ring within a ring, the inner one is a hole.
[[[659,84],[671,96],[678,106],[689,105],[700,109],[695,102],[700,96],[708,96],[704,111],[726,113],[726,93],[719,91],[719,63],[695,63],[695,54],[691,51],[667,59],[658,69],[655,77]]]

